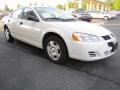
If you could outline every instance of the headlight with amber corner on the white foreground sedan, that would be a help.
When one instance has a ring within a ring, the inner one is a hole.
[[[82,41],[82,42],[98,42],[98,41],[100,41],[99,37],[96,35],[80,33],[80,32],[73,33],[72,39],[74,41]]]

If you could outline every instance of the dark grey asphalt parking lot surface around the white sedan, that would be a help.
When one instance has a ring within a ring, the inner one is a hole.
[[[120,17],[103,26],[120,42]],[[6,42],[0,32],[0,90],[120,90],[120,47],[100,61],[70,59],[56,65],[41,49],[16,40]]]

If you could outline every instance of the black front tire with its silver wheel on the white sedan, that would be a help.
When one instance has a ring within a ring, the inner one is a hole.
[[[65,64],[68,60],[67,47],[64,41],[56,35],[49,36],[45,40],[44,50],[53,63]]]

